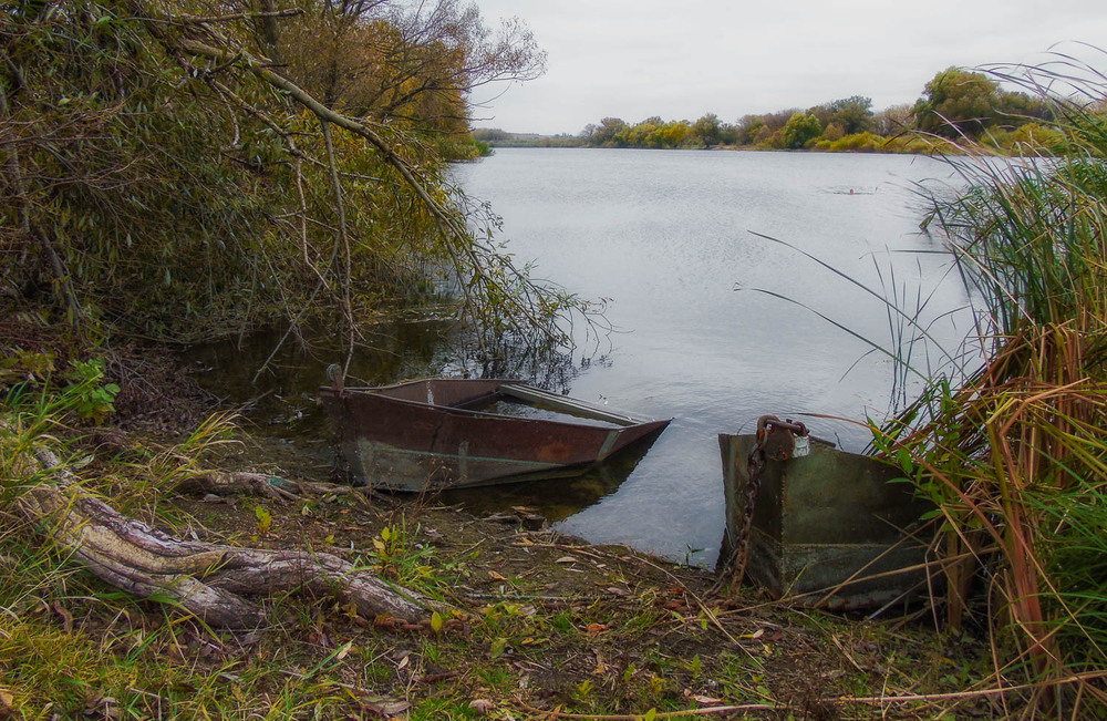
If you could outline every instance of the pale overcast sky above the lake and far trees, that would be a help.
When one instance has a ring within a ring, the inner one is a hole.
[[[950,65],[1041,63],[1051,49],[1107,70],[1074,44],[1107,48],[1107,0],[476,2],[492,28],[521,18],[549,53],[545,76],[475,109],[477,127],[516,133],[577,134],[608,116],[733,123],[850,95],[882,110]]]

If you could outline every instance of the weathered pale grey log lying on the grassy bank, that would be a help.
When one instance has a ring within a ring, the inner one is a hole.
[[[335,596],[370,618],[417,624],[430,614],[417,594],[331,554],[173,538],[81,491],[52,452],[40,449],[35,456],[55,483],[30,487],[17,501],[20,511],[72,559],[137,597],[178,606],[225,628],[263,622],[261,606],[248,596],[299,589]]]

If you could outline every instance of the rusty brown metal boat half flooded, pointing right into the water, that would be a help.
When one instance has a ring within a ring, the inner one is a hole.
[[[353,482],[413,493],[579,475],[655,437],[670,422],[611,412],[516,380],[337,383],[322,387],[320,400]]]

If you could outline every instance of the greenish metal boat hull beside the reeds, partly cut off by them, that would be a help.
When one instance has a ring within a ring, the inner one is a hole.
[[[720,558],[738,538],[746,459],[754,435],[718,436],[726,497]],[[754,504],[746,576],[774,598],[831,610],[875,608],[924,590],[927,540],[915,536],[933,508],[899,468],[811,443],[810,454],[767,461]]]

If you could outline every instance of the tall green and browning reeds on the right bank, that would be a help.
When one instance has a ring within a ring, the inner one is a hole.
[[[935,608],[991,631],[996,686],[1078,718],[1107,710],[1107,83],[1067,60],[1017,78],[1063,155],[959,158],[968,190],[934,202],[987,360],[875,432],[938,505]]]

